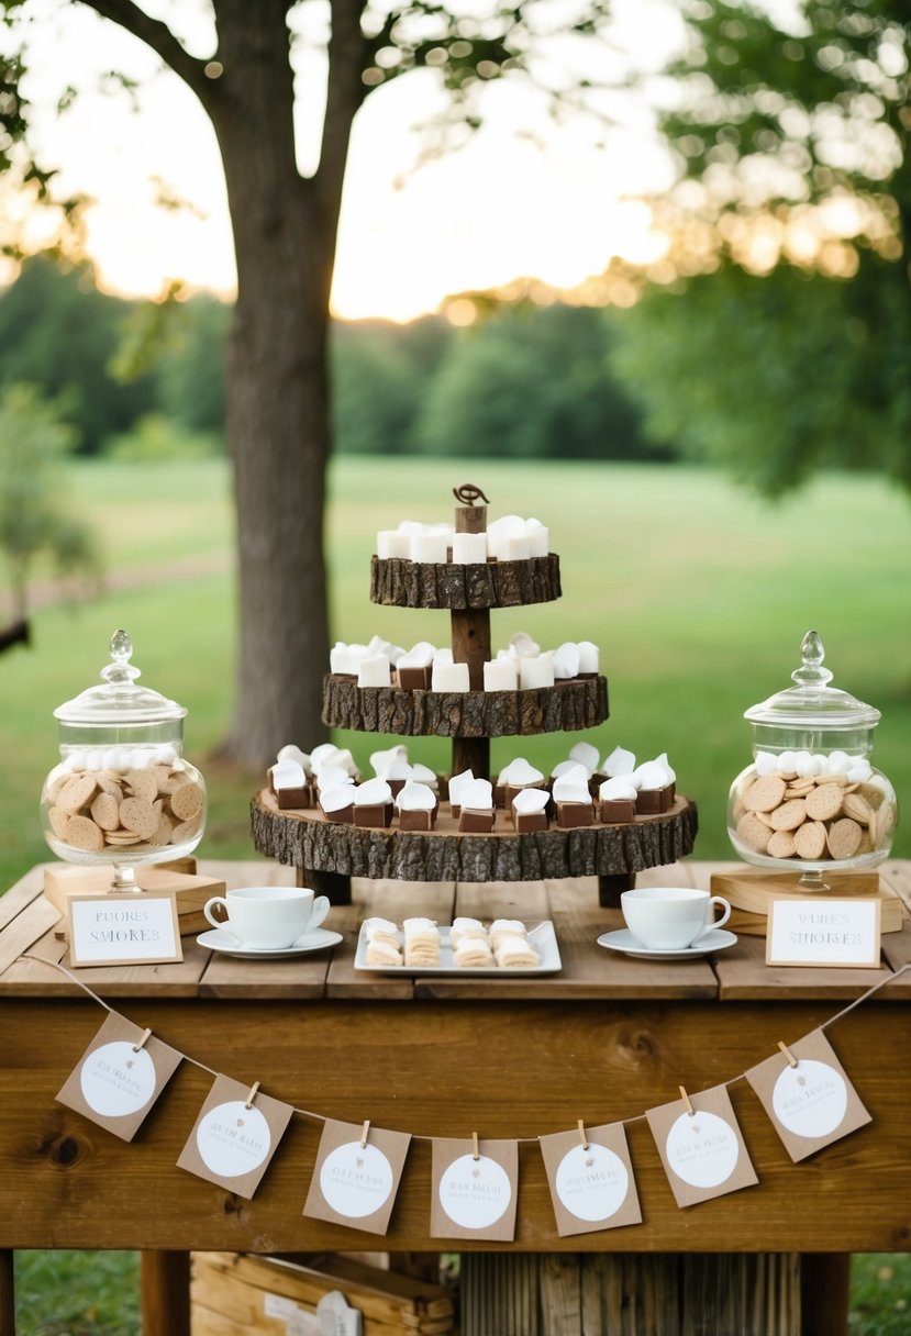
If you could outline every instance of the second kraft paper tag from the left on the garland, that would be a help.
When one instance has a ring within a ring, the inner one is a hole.
[[[250,1086],[215,1077],[178,1168],[216,1182],[239,1197],[252,1197],[275,1154],[294,1109]]]

